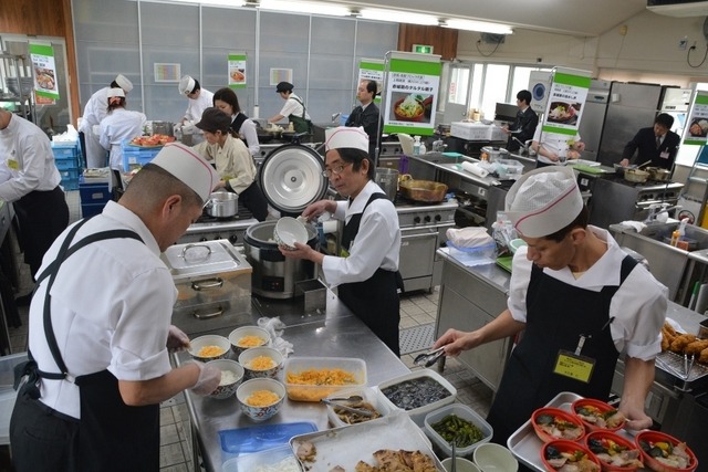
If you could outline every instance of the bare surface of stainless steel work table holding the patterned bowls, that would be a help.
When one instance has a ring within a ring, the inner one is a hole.
[[[336,295],[327,291],[326,311],[305,314],[302,300],[269,301],[253,298],[254,308],[262,315],[280,316],[287,327],[282,338],[293,344],[292,357],[356,357],[366,363],[367,380],[375,386],[384,380],[408,374],[410,370],[396,357],[356,316],[344,306]],[[253,311],[256,312],[256,311]],[[252,324],[243,319],[241,325]],[[212,334],[228,336],[239,325],[214,331]],[[188,360],[187,353],[175,356],[177,364]],[[253,422],[240,410],[236,397],[216,400],[185,392],[191,420],[195,470],[199,471],[196,447],[201,452],[202,464],[207,471],[218,471],[225,459],[219,442],[220,430],[248,428],[257,424],[277,424],[293,421],[310,421],[319,430],[327,429],[326,409],[323,405],[291,401],[285,399],[282,409],[270,420]]]

